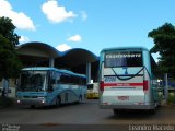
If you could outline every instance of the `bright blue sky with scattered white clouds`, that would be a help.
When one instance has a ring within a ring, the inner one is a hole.
[[[12,19],[20,44],[40,41],[59,51],[143,46],[148,33],[175,22],[175,0],[0,0],[0,16]]]

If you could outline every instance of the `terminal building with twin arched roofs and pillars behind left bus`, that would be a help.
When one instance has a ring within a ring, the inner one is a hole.
[[[33,41],[20,45],[19,57],[25,67],[51,67],[70,70],[75,73],[86,74],[88,83],[97,82],[98,57],[90,50],[74,48],[63,52],[48,44]],[[2,80],[0,82],[0,95],[2,87],[9,87],[9,96],[15,96],[15,80]]]

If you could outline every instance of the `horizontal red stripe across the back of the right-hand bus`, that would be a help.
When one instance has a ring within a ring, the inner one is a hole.
[[[143,86],[143,83],[104,83],[104,86]]]

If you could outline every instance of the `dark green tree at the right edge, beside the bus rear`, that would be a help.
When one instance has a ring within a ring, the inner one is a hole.
[[[175,27],[171,23],[165,23],[161,27],[149,32],[149,37],[153,38],[154,47],[151,52],[159,52],[159,66],[162,73],[175,73]]]

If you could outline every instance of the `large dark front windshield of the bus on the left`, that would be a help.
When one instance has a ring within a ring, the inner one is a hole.
[[[46,90],[47,71],[22,71],[20,91],[43,92]]]

